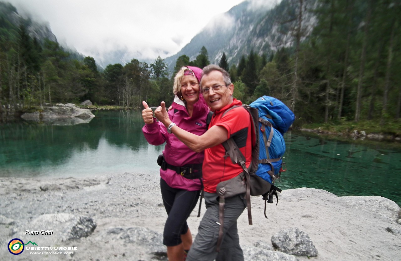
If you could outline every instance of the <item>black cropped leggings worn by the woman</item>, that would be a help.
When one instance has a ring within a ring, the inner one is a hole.
[[[188,231],[186,219],[196,206],[201,191],[174,189],[167,185],[162,178],[160,178],[160,189],[164,208],[168,215],[164,225],[163,244],[172,247],[182,243],[181,235]]]

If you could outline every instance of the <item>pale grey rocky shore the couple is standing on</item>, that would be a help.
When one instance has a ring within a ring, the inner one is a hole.
[[[0,178],[0,260],[167,260],[159,179],[140,173]],[[269,219],[260,197],[251,203],[253,225],[247,211],[238,220],[247,261],[400,258],[401,209],[384,197],[287,189],[278,205],[267,205]],[[194,235],[197,210],[188,219]],[[15,238],[25,244],[19,255],[8,251]]]

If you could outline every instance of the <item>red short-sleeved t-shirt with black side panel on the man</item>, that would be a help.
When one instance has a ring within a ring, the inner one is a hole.
[[[225,128],[228,132],[227,139],[233,137],[245,156],[248,167],[252,155],[251,120],[249,113],[241,105],[241,101],[234,99],[232,104],[216,111],[209,128],[215,125]],[[239,107],[232,108],[233,106]],[[232,109],[228,110],[230,108]],[[231,161],[230,157],[224,157],[225,152],[222,144],[205,150],[203,185],[205,191],[209,193],[216,192],[219,182],[231,179],[243,171],[239,164]]]

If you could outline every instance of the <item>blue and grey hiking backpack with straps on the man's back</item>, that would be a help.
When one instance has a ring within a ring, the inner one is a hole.
[[[279,179],[280,173],[283,171],[282,165],[285,164],[282,160],[286,151],[283,134],[288,131],[295,116],[283,102],[270,96],[262,96],[249,105],[243,105],[243,108],[251,116],[253,129],[251,165],[246,167],[245,157],[237,149],[232,138],[225,141],[223,146],[231,161],[241,165],[244,170],[243,179],[245,179],[247,187],[248,216],[251,224],[250,195],[263,196],[266,218],[266,201],[273,203],[272,196],[275,195],[278,202],[277,191],[281,192],[282,190],[274,185],[274,181]]]

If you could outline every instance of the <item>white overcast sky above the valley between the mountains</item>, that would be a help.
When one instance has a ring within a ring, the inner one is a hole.
[[[2,1],[13,4],[20,14],[29,12],[33,19],[48,23],[59,43],[104,66],[116,50],[124,53],[121,63],[176,54],[209,21],[223,18],[223,13],[244,0]]]

